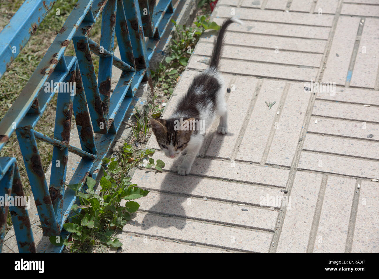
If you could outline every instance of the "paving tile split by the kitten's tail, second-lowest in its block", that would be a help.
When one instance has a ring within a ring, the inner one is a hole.
[[[194,54],[211,56],[212,50],[213,44],[198,43]],[[279,50],[279,52],[276,53],[273,49],[256,49],[246,46],[230,45],[224,46],[222,57],[313,67],[319,67],[322,59],[321,54],[291,52],[285,50]]]

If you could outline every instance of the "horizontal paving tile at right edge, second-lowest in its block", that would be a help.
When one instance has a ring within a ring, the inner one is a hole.
[[[303,150],[379,159],[379,142],[307,134]]]

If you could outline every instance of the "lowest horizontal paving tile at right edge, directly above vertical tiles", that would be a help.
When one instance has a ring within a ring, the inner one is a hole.
[[[302,151],[299,169],[352,175],[363,178],[379,178],[379,161],[334,156]]]

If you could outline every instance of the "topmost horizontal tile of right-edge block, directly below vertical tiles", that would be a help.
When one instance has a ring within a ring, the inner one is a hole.
[[[379,106],[379,91],[352,88],[336,87],[335,92],[318,92],[317,99],[332,101],[343,101],[360,104],[371,104]]]

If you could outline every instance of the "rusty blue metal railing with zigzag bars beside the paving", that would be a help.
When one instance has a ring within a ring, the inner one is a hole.
[[[27,0],[0,33],[0,77],[16,58],[12,46],[25,46],[55,1]],[[64,236],[63,224],[74,204],[75,193],[66,184],[83,185],[97,177],[143,78],[151,87],[149,60],[174,13],[171,0],[78,0],[27,85],[0,121],[0,149],[16,131],[44,236]],[[100,45],[88,38],[102,14]],[[113,55],[114,36],[120,58]],[[146,41],[144,36],[149,37]],[[76,57],[64,56],[72,40]],[[99,74],[91,52],[99,56]],[[17,52],[18,53],[18,52]],[[111,94],[112,65],[122,70]],[[53,86],[52,86],[53,85]],[[67,85],[66,90],[63,89]],[[72,88],[71,88],[72,87]],[[59,91],[54,136],[37,131],[49,102]],[[70,145],[72,116],[81,148]],[[101,134],[94,137],[94,134]],[[51,178],[45,178],[36,139],[53,145]],[[66,183],[68,152],[81,156]],[[60,164],[56,164],[57,160]],[[23,197],[15,158],[0,158],[0,197]],[[49,185],[49,186],[48,186]],[[19,252],[35,252],[30,219],[24,206],[0,206],[0,252],[8,211],[11,213]]]

